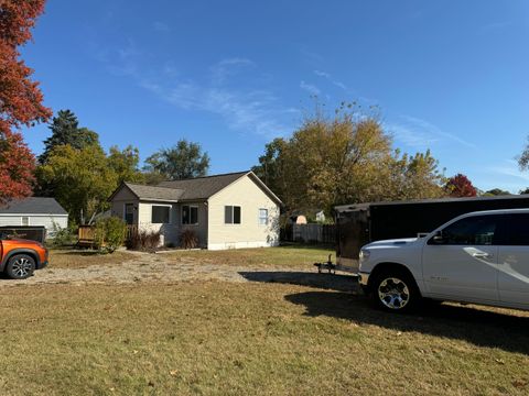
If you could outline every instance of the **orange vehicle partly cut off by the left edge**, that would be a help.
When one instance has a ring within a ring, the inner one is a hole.
[[[47,265],[48,252],[36,241],[1,238],[0,272],[12,279],[25,279]]]

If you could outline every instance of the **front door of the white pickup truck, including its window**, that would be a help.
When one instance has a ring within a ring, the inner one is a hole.
[[[423,279],[435,297],[465,301],[499,300],[498,246],[495,233],[500,217],[473,216],[460,219],[431,238],[422,252]]]

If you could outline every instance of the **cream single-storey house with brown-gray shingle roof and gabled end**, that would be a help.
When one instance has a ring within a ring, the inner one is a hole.
[[[122,183],[109,201],[112,216],[140,231],[159,231],[165,245],[179,245],[184,230],[209,250],[279,243],[281,200],[252,172],[158,186]]]

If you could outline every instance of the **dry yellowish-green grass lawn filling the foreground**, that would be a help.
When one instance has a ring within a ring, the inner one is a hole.
[[[251,252],[222,254],[270,272],[320,254]],[[204,280],[0,288],[0,395],[529,393],[527,312],[442,305],[389,315],[354,290]]]

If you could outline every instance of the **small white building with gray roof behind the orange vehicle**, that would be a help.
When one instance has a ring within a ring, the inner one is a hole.
[[[68,227],[68,212],[54,198],[13,199],[0,206],[1,226],[44,226],[48,238]]]

